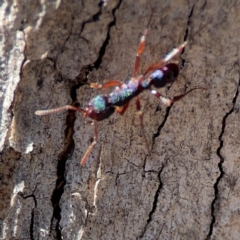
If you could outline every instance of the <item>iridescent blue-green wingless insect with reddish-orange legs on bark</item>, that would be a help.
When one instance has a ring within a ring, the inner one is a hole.
[[[173,48],[167,55],[163,57],[162,60],[150,66],[144,74],[137,76],[139,65],[140,65],[140,57],[145,47],[146,36],[148,34],[149,24],[152,18],[152,14],[150,16],[147,28],[143,32],[140,43],[137,50],[137,55],[135,58],[135,66],[133,77],[127,82],[123,83],[118,80],[108,81],[104,84],[91,83],[90,87],[96,89],[115,87],[112,92],[109,94],[97,95],[92,98],[88,103],[86,108],[78,108],[72,105],[65,105],[63,107],[49,109],[49,110],[38,110],[35,112],[36,115],[46,115],[51,113],[56,113],[64,110],[73,110],[78,111],[83,114],[83,117],[89,117],[93,119],[94,124],[94,140],[91,145],[88,147],[86,153],[84,154],[81,165],[84,165],[88,159],[89,154],[91,153],[93,147],[97,143],[98,140],[98,131],[97,131],[97,121],[102,121],[106,118],[109,118],[115,110],[123,115],[127,110],[129,102],[136,98],[136,108],[139,114],[141,127],[143,129],[143,119],[141,112],[141,104],[139,94],[144,90],[150,90],[151,94],[155,97],[159,98],[163,104],[167,106],[171,106],[174,102],[179,101],[183,97],[185,97],[191,91],[196,89],[205,90],[205,88],[192,88],[188,92],[175,96],[170,99],[162,96],[158,91],[153,90],[151,87],[162,88],[169,83],[173,83],[179,74],[179,66],[176,63],[171,63],[170,61],[179,55],[187,42],[183,42],[179,47]],[[146,140],[146,139],[145,139]]]

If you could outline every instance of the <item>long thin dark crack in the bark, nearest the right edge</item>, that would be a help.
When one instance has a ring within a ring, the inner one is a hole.
[[[223,135],[224,135],[224,132],[225,132],[225,128],[226,128],[226,121],[227,121],[227,118],[229,117],[229,115],[231,115],[233,112],[234,112],[234,109],[235,109],[235,104],[236,104],[236,101],[237,101],[237,97],[238,97],[238,94],[239,94],[239,90],[238,90],[238,87],[240,86],[240,77],[239,77],[239,80],[238,80],[238,85],[237,85],[237,90],[236,90],[236,93],[235,93],[235,96],[232,100],[232,108],[225,114],[225,116],[223,117],[223,120],[222,120],[222,130],[221,130],[221,133],[218,137],[218,140],[219,140],[219,147],[217,149],[217,156],[219,157],[220,161],[218,163],[218,168],[219,168],[219,171],[220,171],[220,175],[219,177],[217,178],[215,184],[213,185],[214,187],[214,192],[215,192],[215,197],[212,201],[212,204],[211,204],[211,217],[212,217],[212,221],[210,223],[210,229],[209,229],[209,233],[206,237],[206,240],[209,240],[211,239],[211,236],[212,236],[212,233],[213,233],[213,228],[214,228],[214,224],[216,222],[216,217],[215,217],[215,210],[216,210],[216,202],[219,200],[218,197],[219,197],[219,189],[218,189],[218,186],[219,186],[219,183],[221,181],[221,179],[223,178],[225,172],[223,170],[223,163],[225,161],[224,157],[222,156],[221,154],[221,150],[223,148]]]

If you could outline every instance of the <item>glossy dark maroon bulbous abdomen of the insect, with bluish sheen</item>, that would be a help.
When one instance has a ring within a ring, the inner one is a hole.
[[[151,74],[151,84],[156,88],[164,87],[167,83],[173,83],[179,74],[179,67],[175,63],[168,63],[163,68],[155,70]]]

